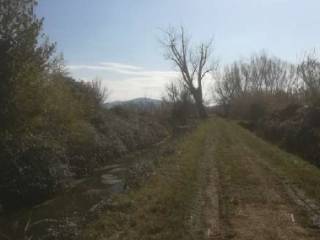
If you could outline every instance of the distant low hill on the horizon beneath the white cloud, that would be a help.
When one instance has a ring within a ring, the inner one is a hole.
[[[152,99],[152,98],[135,98],[128,101],[114,101],[106,103],[106,108],[114,108],[114,107],[125,107],[130,109],[138,109],[138,110],[150,110],[153,108],[157,108],[161,105],[161,100]]]

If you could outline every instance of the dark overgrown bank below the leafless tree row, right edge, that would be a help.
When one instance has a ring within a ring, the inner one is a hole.
[[[319,107],[291,104],[243,126],[320,167]]]

